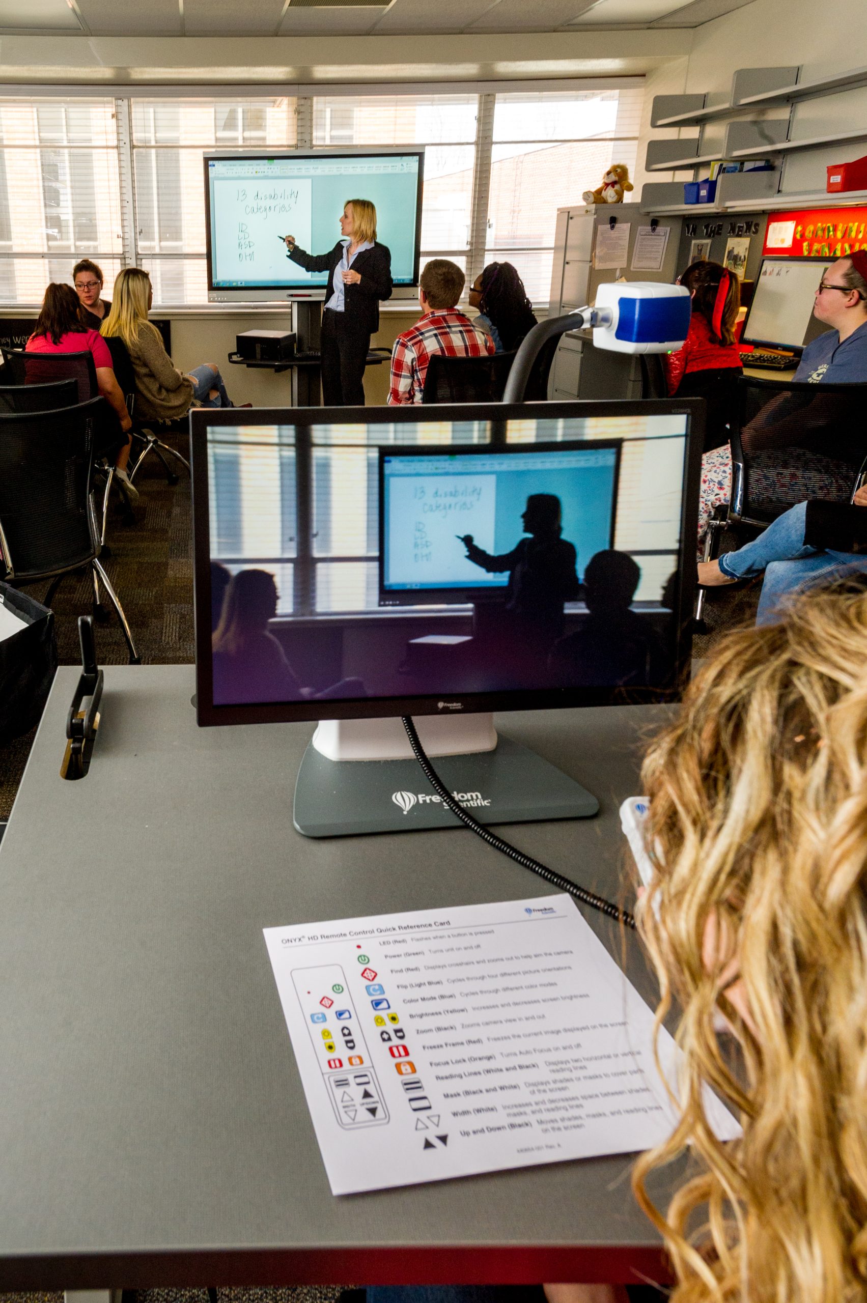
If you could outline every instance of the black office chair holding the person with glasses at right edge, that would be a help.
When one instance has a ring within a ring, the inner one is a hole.
[[[829,468],[829,500],[847,499],[851,502],[858,489],[867,480],[867,383],[866,384],[810,384],[802,380],[772,380],[754,375],[738,375],[737,404],[731,425],[731,493],[729,502],[718,506],[709,523],[704,539],[703,559],[716,560],[725,530],[731,530],[739,543],[748,542],[768,528],[778,516],[798,502],[816,498],[804,486],[787,486],[782,495],[759,498],[750,489],[750,457],[744,452],[741,431],[756,418],[759,412],[774,397],[791,395],[795,410],[807,418],[808,409],[816,413],[815,404],[821,404],[820,417],[829,430],[846,427],[853,459],[858,459],[859,469],[841,469],[834,485],[834,474]],[[789,414],[789,413],[786,413]],[[786,451],[781,448],[780,452]],[[853,460],[853,466],[855,461]],[[695,618],[700,622],[704,611],[705,589],[699,589]]]

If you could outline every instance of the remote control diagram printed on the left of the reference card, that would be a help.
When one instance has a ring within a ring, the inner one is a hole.
[[[389,1109],[343,968],[295,968],[292,982],[340,1126],[357,1131],[387,1124]]]

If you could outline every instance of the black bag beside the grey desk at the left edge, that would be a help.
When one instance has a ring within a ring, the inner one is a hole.
[[[25,593],[0,584],[0,605],[25,627],[0,640],[0,745],[39,723],[57,668],[55,616]]]

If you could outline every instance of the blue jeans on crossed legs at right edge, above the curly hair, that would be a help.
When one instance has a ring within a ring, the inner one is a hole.
[[[867,571],[867,556],[806,547],[806,517],[807,503],[801,502],[777,516],[751,543],[720,558],[720,569],[729,579],[751,579],[764,571],[756,624],[774,624],[782,618],[786,598],[814,584]]]

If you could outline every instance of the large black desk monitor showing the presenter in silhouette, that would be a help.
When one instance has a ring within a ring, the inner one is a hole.
[[[660,701],[696,401],[192,413],[201,724]]]

